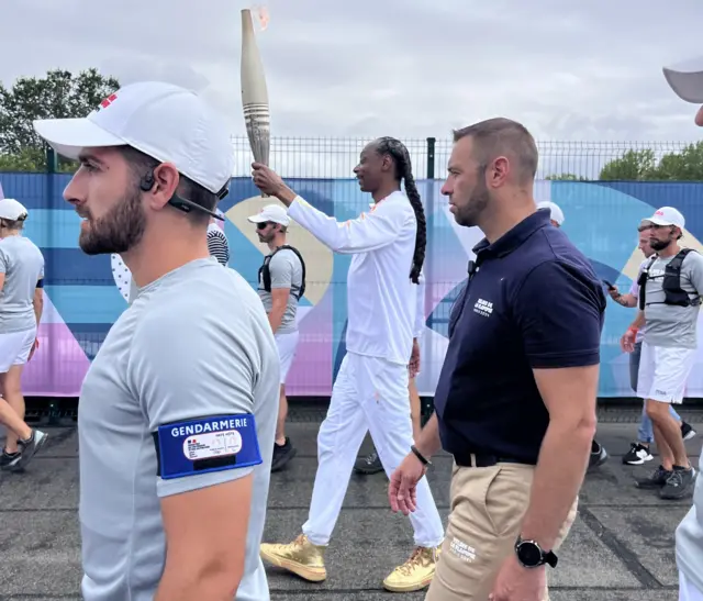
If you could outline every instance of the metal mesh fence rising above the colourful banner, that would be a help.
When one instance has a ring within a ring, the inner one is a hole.
[[[451,154],[451,138],[402,138],[410,152],[417,179],[444,179]],[[370,138],[274,137],[270,165],[289,178],[349,178],[359,160],[359,153]],[[539,168],[537,179],[571,174],[584,179],[599,179],[603,167],[627,151],[651,149],[658,162],[670,153],[679,153],[687,142],[579,142],[538,141]],[[233,136],[235,177],[250,172],[252,152],[246,136]]]

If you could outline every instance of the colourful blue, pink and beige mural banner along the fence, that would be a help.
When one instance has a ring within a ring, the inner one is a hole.
[[[46,259],[41,345],[23,376],[27,396],[78,396],[90,361],[126,309],[130,276],[121,259],[89,257],[78,247],[79,218],[62,198],[68,180],[69,176],[60,174],[0,174],[0,198],[3,192],[27,207],[24,234]],[[368,196],[359,191],[356,180],[291,179],[289,183],[339,221],[368,210]],[[442,181],[421,180],[417,186],[427,213],[426,327],[417,386],[422,394],[432,396],[446,353],[449,309],[466,279],[471,248],[482,236],[477,229],[455,223],[440,193]],[[537,181],[535,197],[561,207],[563,231],[589,257],[599,277],[623,291],[643,259],[637,251],[637,224],[658,207],[678,208],[687,219],[684,244],[703,252],[699,242],[703,237],[703,183]],[[237,178],[220,207],[227,218],[230,267],[254,287],[266,247],[246,218],[264,202],[248,178]],[[346,287],[350,259],[334,255],[294,223],[289,242],[305,257],[308,285],[299,309],[300,345],[287,390],[290,396],[328,396],[345,353],[347,293],[353,293]],[[634,311],[609,301],[601,341],[601,397],[633,396],[628,356],[621,352],[618,341]],[[696,398],[703,397],[703,343],[700,346],[688,385],[688,396]]]

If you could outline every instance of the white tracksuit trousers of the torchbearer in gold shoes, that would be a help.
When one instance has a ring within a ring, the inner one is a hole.
[[[303,524],[312,544],[330,542],[367,431],[389,477],[410,452],[413,429],[408,378],[404,365],[354,353],[344,357],[317,434],[317,474]],[[444,528],[427,478],[417,483],[417,509],[410,521],[415,545],[442,544]]]

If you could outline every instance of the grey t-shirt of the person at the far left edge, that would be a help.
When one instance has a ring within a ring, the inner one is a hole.
[[[0,240],[0,274],[4,285],[0,291],[0,334],[26,332],[36,327],[34,291],[44,278],[44,256],[24,236]]]

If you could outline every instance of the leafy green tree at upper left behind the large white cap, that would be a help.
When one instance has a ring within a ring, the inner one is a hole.
[[[0,84],[0,170],[45,170],[45,145],[36,134],[35,119],[86,116],[102,99],[120,88],[113,77],[97,69],[55,69],[43,78],[22,77],[11,89]],[[62,170],[72,168],[62,163]]]

